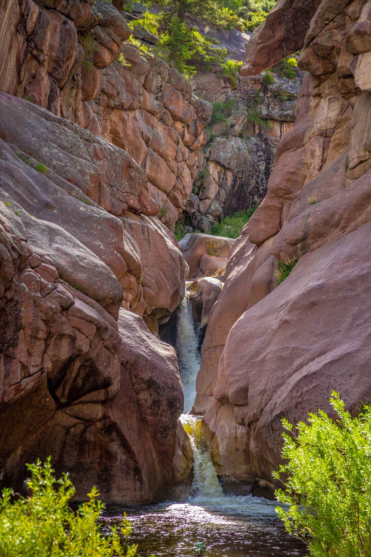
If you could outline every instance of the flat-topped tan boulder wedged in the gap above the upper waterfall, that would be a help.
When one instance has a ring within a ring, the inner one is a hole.
[[[179,242],[187,265],[189,278],[213,275],[217,268],[224,268],[234,240],[210,234],[186,234]]]

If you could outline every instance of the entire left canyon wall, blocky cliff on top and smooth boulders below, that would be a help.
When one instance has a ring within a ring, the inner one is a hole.
[[[190,469],[156,338],[188,269],[156,216],[184,208],[211,107],[108,2],[1,13],[2,482],[51,455],[80,500],[152,501]]]

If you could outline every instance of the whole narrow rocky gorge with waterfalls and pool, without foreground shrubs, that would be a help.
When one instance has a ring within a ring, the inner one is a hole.
[[[371,402],[371,0],[237,4],[0,7],[1,486],[142,557],[307,555],[282,419]]]

